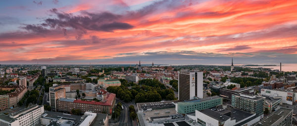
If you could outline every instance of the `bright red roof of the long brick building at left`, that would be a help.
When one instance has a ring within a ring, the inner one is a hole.
[[[78,99],[78,100],[74,100],[73,103],[92,104],[92,105],[101,105],[101,106],[111,106],[114,99],[115,99],[115,94],[110,93],[106,97],[106,102],[82,101],[82,100]]]

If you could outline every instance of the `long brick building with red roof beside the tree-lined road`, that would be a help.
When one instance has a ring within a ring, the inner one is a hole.
[[[80,109],[82,113],[93,112],[93,113],[107,113],[112,114],[112,109],[115,106],[115,94],[108,93],[106,98],[102,102],[86,101],[86,100],[75,100],[60,98],[57,100],[57,111],[71,112],[72,109]]]

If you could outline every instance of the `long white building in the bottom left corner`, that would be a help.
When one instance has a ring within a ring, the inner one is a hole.
[[[44,106],[33,105],[10,115],[0,115],[0,126],[38,126]]]

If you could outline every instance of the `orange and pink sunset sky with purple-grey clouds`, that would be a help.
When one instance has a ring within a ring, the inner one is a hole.
[[[1,0],[0,64],[297,63],[297,0]]]

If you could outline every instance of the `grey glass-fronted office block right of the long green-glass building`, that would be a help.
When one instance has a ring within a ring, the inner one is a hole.
[[[250,94],[234,94],[232,95],[231,104],[237,109],[255,113],[256,116],[263,115],[264,97]]]

